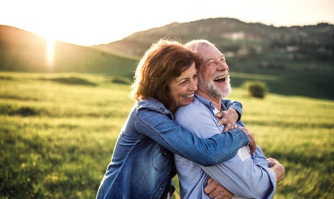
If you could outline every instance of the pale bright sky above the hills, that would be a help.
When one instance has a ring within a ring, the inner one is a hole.
[[[0,0],[0,25],[92,46],[205,18],[237,18],[276,27],[334,24],[333,8],[334,0]]]

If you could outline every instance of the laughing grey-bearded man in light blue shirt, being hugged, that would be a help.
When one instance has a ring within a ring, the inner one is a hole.
[[[224,125],[218,126],[215,114],[226,110],[222,98],[231,93],[229,67],[224,55],[207,40],[194,40],[185,44],[185,47],[195,51],[202,62],[198,68],[198,90],[194,102],[178,109],[176,121],[199,137],[211,137],[224,129]],[[244,124],[237,122],[237,128],[244,128]],[[214,198],[215,192],[207,195],[204,190],[210,176],[231,191],[231,196],[272,198],[277,183],[285,176],[283,165],[276,159],[267,160],[259,146],[252,156],[245,146],[229,161],[210,167],[178,155],[175,155],[175,163],[182,198]]]

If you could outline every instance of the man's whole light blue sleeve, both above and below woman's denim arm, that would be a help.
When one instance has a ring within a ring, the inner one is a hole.
[[[196,119],[190,119],[187,114],[192,114]],[[199,137],[212,136],[214,132],[220,133],[216,124],[216,118],[210,114],[209,109],[199,107],[184,107],[177,111],[177,122],[182,124]],[[210,133],[201,131],[209,129]],[[226,148],[228,150],[228,148]],[[201,166],[205,173],[214,178],[220,185],[226,187],[235,196],[244,198],[272,198],[276,189],[276,174],[268,168],[265,157],[260,148],[257,148],[253,158],[244,161],[235,155],[227,161],[223,161],[209,167]]]

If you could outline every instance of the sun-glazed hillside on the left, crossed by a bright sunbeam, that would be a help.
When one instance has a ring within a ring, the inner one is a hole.
[[[133,77],[136,59],[90,47],[54,42],[53,64],[47,63],[47,40],[29,31],[0,25],[0,70],[21,72],[93,72]]]

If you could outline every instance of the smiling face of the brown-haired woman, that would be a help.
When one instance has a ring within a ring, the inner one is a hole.
[[[192,103],[197,84],[198,75],[195,63],[193,63],[190,68],[169,83],[171,103],[168,109],[175,112],[177,108]]]

